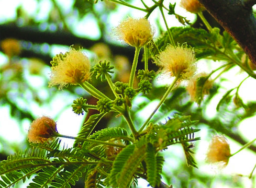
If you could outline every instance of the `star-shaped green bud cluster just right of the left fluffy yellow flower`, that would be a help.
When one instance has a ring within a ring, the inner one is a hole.
[[[113,68],[114,66],[110,66],[110,62],[107,62],[106,60],[104,62],[99,61],[93,68],[93,73],[96,73],[96,79],[101,78],[101,81],[104,81],[107,74],[114,73],[112,70]],[[109,75],[109,77],[112,78],[111,75]]]

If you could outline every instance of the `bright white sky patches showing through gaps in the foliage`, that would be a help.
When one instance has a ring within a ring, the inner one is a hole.
[[[26,10],[28,10],[29,15],[34,15],[37,7],[35,2],[36,1],[33,1],[33,0],[16,0],[16,1],[0,0],[0,23],[8,19],[15,18],[15,14],[16,14],[15,7],[17,7],[18,5],[22,5],[23,7],[25,7]],[[65,13],[69,13],[70,11],[69,7],[72,1],[59,0],[59,2],[61,2],[61,4],[63,5],[62,6],[63,11]],[[44,15],[46,15],[45,13],[48,13],[51,3],[49,0],[42,0],[40,1],[40,6],[41,6],[41,10],[40,10],[41,14],[37,18],[39,20],[44,19]],[[97,6],[98,8],[101,8],[101,2],[99,2]],[[193,14],[184,13],[184,10],[181,7],[179,7],[179,2],[177,2],[175,10],[177,14],[183,15],[187,17],[189,20],[194,19]],[[124,12],[125,13],[130,12],[132,16],[136,15],[136,17],[144,16],[144,14],[141,11],[136,11],[136,10],[131,11],[130,8],[123,7],[123,9],[119,9],[118,12],[112,16],[113,27],[117,26],[119,21],[123,19]],[[153,23],[153,20],[155,19],[156,16],[157,14],[155,13],[150,17],[150,20],[152,19],[151,23]],[[90,15],[88,15],[88,17],[90,17]],[[72,24],[77,25],[77,27],[72,27]],[[181,26],[181,24],[176,19],[168,19],[168,25],[170,27]],[[74,30],[75,33],[85,37],[90,36],[91,38],[97,38],[99,34],[93,19],[86,22],[85,21],[78,22],[73,20],[71,23],[71,28],[75,28]],[[87,28],[91,28],[91,29],[87,29]],[[92,29],[92,28],[95,28],[95,29]],[[60,48],[59,46],[56,46],[53,50],[53,55],[59,52],[64,52],[65,50],[66,49],[62,47]],[[6,62],[7,62],[6,57],[0,53],[0,66]],[[201,62],[201,67],[199,68],[202,70],[206,70],[207,72],[210,72],[210,69],[207,67],[207,65],[204,62]],[[227,75],[228,81],[225,83],[227,88],[232,88],[237,86],[237,83],[239,83],[237,80],[241,81],[244,78],[245,74],[234,75],[233,72],[229,72],[229,74]],[[49,76],[50,68],[46,68],[44,70],[44,73],[46,76]],[[38,79],[39,78],[33,77],[32,80],[40,81]],[[247,100],[248,101],[255,100],[256,91],[255,89],[253,89],[252,86],[255,86],[254,79],[247,79],[246,81],[244,81],[243,85],[241,86],[239,94],[244,99],[244,102],[247,102]],[[225,91],[226,89],[224,88],[222,90]],[[215,97],[215,100],[211,102],[208,109],[206,109],[206,114],[209,117],[213,116],[216,113],[216,110],[215,110],[216,105],[219,99],[222,97],[222,95],[224,95],[224,93],[219,93],[219,95]],[[65,95],[64,91],[59,91],[59,95],[54,100],[54,103],[52,103],[49,107],[39,109],[38,107],[31,105],[31,108],[34,108],[35,114],[38,114],[38,116],[47,115],[47,116],[54,117],[55,115],[57,115],[56,112],[60,112],[66,106],[66,104],[63,103],[63,101],[68,101],[67,103],[72,104],[73,100],[74,98],[71,96]],[[158,104],[157,101],[150,103],[149,106],[147,106],[147,109],[153,110],[157,104]],[[146,110],[142,110],[140,113],[141,113],[141,116],[143,116],[144,114],[144,116],[147,117],[147,114],[149,114],[150,112]],[[3,135],[6,139],[8,139],[10,142],[6,144],[18,145],[18,143],[23,142],[23,140],[26,139],[26,134],[20,133],[20,130],[17,128],[17,122],[14,119],[9,117],[8,107],[0,108],[0,119],[2,120],[0,122],[0,130],[2,130],[0,134]],[[70,135],[70,136],[76,136],[77,132],[79,131],[82,120],[83,120],[83,117],[81,115],[79,116],[74,114],[70,107],[66,108],[65,110],[62,111],[61,115],[58,117],[58,120],[57,120],[59,133]],[[239,130],[243,133],[244,136],[247,137],[248,140],[252,140],[255,138],[255,135],[256,135],[255,121],[256,121],[256,117],[251,117],[250,119],[244,120],[239,126]],[[24,121],[22,122],[22,124],[23,124],[23,131],[26,133],[29,128],[30,122]],[[248,150],[243,150],[239,154],[231,157],[228,163],[228,166],[222,170],[216,170],[214,167],[211,167],[204,162],[205,153],[207,151],[208,142],[209,142],[209,138],[206,137],[207,131],[208,130],[206,128],[202,128],[202,130],[199,133],[197,133],[197,136],[201,136],[201,140],[199,142],[196,142],[196,147],[200,148],[196,152],[198,171],[202,173],[213,174],[213,177],[216,177],[222,173],[234,175],[234,177],[237,177],[235,174],[249,175],[254,164],[256,163],[256,160],[255,160],[256,156],[255,154],[253,154]],[[65,143],[69,142],[68,139],[62,139],[62,140],[64,140]],[[240,145],[233,142],[231,139],[229,139],[229,142],[230,142],[231,153],[237,151],[241,147]],[[71,145],[72,145],[72,142],[70,143],[70,146]],[[0,149],[2,149],[1,145],[0,145]],[[165,151],[165,152],[170,152],[170,155],[169,157],[166,158],[166,162],[165,162],[166,164],[164,168],[170,169],[170,170],[174,168],[179,168],[179,165],[177,165],[179,164],[179,162],[177,163],[177,160],[179,159],[185,160],[183,151],[180,149],[180,146],[171,146],[169,147],[168,150],[169,151]],[[241,178],[239,179],[239,181],[247,182],[248,187],[250,186],[249,185],[250,181],[247,178]],[[229,187],[229,186],[221,184],[220,182],[220,184],[216,185],[215,187]]]

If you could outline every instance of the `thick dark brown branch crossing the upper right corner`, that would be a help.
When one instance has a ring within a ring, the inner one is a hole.
[[[199,0],[209,13],[237,41],[256,64],[256,19],[252,13],[254,0]]]

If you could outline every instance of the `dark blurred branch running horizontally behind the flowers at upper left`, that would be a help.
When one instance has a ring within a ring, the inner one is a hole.
[[[85,49],[90,49],[94,44],[103,42],[107,44],[113,54],[124,55],[129,58],[132,62],[134,49],[131,46],[121,46],[110,43],[109,41],[104,40],[91,40],[85,39],[82,37],[77,37],[73,33],[57,30],[57,31],[42,31],[36,26],[24,26],[18,27],[14,23],[8,23],[0,25],[0,41],[6,38],[15,38],[18,40],[24,40],[31,43],[37,44],[60,44],[70,46],[72,44],[79,44]],[[43,60],[49,61],[49,54],[40,54],[31,51],[31,49],[23,50],[24,53],[21,53],[21,57],[31,57],[35,55],[36,57],[42,58]],[[50,58],[51,60],[51,58]],[[49,61],[50,62],[50,61]],[[49,63],[50,65],[50,63]]]

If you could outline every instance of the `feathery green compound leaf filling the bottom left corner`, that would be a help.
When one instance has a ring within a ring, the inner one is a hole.
[[[0,187],[13,187],[37,174],[27,186],[71,187],[94,161],[88,161],[78,149],[59,149],[60,140],[20,151],[0,163]],[[81,151],[81,150],[80,150]]]

